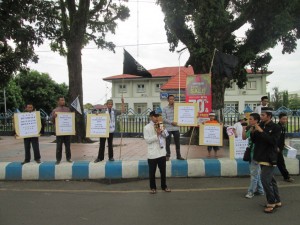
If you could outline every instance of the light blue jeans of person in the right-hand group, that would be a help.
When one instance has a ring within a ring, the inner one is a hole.
[[[260,179],[260,165],[252,160],[251,163],[249,164],[249,169],[250,169],[250,185],[248,188],[248,192],[251,192],[252,194],[254,192],[259,192],[260,194],[264,193],[264,188],[261,183]]]

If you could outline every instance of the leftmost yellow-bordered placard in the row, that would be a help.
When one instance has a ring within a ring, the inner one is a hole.
[[[41,131],[41,114],[39,111],[15,113],[14,125],[16,138],[39,137]]]

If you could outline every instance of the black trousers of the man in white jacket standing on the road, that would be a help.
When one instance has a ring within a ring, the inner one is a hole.
[[[155,182],[155,172],[158,166],[160,171],[160,179],[161,179],[161,189],[166,189],[166,157],[160,157],[157,159],[148,159],[149,166],[149,179],[150,179],[150,189],[156,189]]]

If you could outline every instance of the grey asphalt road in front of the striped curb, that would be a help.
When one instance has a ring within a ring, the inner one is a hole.
[[[281,181],[283,207],[245,199],[249,178],[168,179],[172,193],[148,194],[148,180],[0,182],[0,225],[299,225],[300,177]]]

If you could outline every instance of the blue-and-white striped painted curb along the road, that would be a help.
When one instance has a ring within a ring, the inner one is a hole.
[[[299,159],[285,158],[291,175],[299,175]],[[249,164],[242,159],[189,159],[167,162],[167,177],[236,177],[248,176]],[[277,170],[277,174],[280,174]],[[157,170],[156,176],[159,177]],[[0,162],[0,180],[95,180],[148,178],[147,160],[89,162],[76,161]]]

